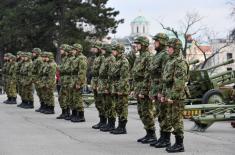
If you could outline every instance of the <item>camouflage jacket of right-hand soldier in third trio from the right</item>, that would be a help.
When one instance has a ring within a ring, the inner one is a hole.
[[[87,58],[82,53],[72,61],[73,87],[79,85],[81,88],[86,84]]]

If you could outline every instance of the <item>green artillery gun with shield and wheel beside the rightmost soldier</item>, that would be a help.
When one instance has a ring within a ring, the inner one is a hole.
[[[212,76],[209,76],[208,72],[231,63],[234,63],[233,59],[207,69],[190,70],[187,84],[190,96],[185,100],[185,104],[218,104],[230,101],[233,88],[226,85],[235,82],[235,71],[226,71]],[[184,116],[191,118],[191,116],[197,116],[201,113],[203,113],[201,109],[191,107],[184,111]]]

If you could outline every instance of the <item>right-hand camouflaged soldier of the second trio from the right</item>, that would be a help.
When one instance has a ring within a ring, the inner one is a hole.
[[[112,79],[114,80],[112,94],[114,96],[115,110],[118,116],[118,127],[111,131],[111,133],[126,134],[128,95],[130,93],[129,62],[123,54],[125,48],[122,44],[115,45],[113,50],[118,52],[115,65],[113,65],[111,69]]]

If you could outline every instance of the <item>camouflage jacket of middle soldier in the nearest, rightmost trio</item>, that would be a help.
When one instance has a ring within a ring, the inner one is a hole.
[[[162,91],[162,73],[168,59],[169,56],[165,49],[151,57],[151,63],[148,68],[150,75],[150,96],[156,96],[158,92],[161,93]]]

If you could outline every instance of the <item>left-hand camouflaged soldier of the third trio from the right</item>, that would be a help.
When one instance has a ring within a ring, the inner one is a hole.
[[[68,52],[71,50],[69,48],[69,45],[67,44],[62,44],[60,46],[60,50],[63,50],[64,53],[61,53],[62,61],[61,64],[59,65],[59,72],[60,72],[60,83],[61,83],[61,88],[59,92],[59,104],[60,108],[62,109],[62,114],[57,117],[57,119],[65,119],[66,117],[70,116],[70,107],[68,105],[68,96],[69,96],[69,88],[67,79],[69,78],[67,75],[67,70],[66,70],[66,64],[68,62]]]

